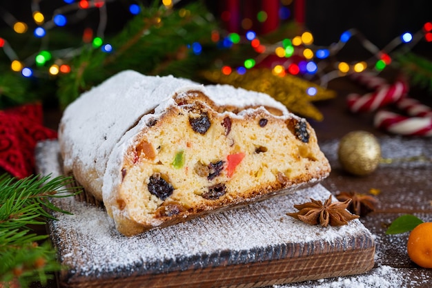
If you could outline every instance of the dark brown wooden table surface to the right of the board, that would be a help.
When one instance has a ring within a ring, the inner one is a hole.
[[[317,122],[309,119],[315,128],[320,144],[326,147],[327,151],[331,151],[328,147],[334,146],[334,143],[337,143],[337,140],[346,133],[357,130],[369,131],[378,140],[396,137],[398,143],[403,144],[406,141],[409,147],[418,145],[423,149],[426,148],[426,151],[431,151],[430,138],[393,136],[373,128],[373,113],[361,115],[349,113],[346,109],[346,95],[352,92],[364,93],[360,86],[349,79],[335,79],[330,82],[328,88],[337,92],[335,99],[313,102],[323,113],[324,120]],[[411,91],[412,93],[417,92]],[[430,94],[427,95],[422,90],[419,90],[418,93],[422,93],[419,98],[424,104],[432,104]],[[410,93],[410,95],[413,94]],[[60,115],[58,109],[46,108],[44,114],[46,126],[57,129]],[[340,191],[368,193],[369,189],[380,190],[380,194],[376,196],[379,201],[376,211],[361,218],[364,226],[375,237],[377,251],[375,267],[364,276],[293,283],[282,287],[356,287],[356,285],[363,285],[362,287],[432,287],[432,269],[418,267],[406,254],[408,234],[389,236],[384,233],[391,221],[404,213],[413,213],[424,221],[432,221],[432,164],[416,166],[415,173],[412,171],[407,173],[407,170],[411,168],[407,169],[404,164],[379,166],[371,175],[355,177],[340,168],[335,155],[328,156],[331,158],[332,172],[322,184],[332,193],[336,194]],[[384,270],[386,271],[384,278],[388,279],[384,279],[383,285],[377,285],[376,279],[382,278]],[[348,283],[348,286],[343,286],[343,283]],[[52,282],[50,287],[57,287],[57,284]]]

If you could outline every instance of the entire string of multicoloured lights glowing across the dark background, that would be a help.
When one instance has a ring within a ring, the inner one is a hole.
[[[41,0],[32,1],[32,19],[37,25],[32,31],[32,37],[41,39],[41,44],[34,55],[26,59],[19,59],[7,39],[0,37],[0,48],[10,59],[10,68],[21,73],[23,77],[52,77],[61,73],[70,73],[68,61],[79,55],[81,51],[88,46],[95,49],[101,49],[106,53],[111,53],[116,50],[110,43],[104,40],[104,31],[106,29],[107,7],[106,3],[115,0],[63,0],[64,6],[57,8],[51,17],[43,15],[40,9]],[[178,2],[178,1],[177,1]],[[176,1],[164,0],[162,5],[166,8],[173,8]],[[99,24],[94,31],[91,28],[86,28],[82,35],[82,45],[79,47],[68,47],[61,50],[48,49],[48,34],[53,28],[61,28],[74,21],[82,19],[83,12],[90,9],[99,10]],[[282,6],[282,12],[279,15],[290,14],[286,6]],[[131,15],[138,15],[141,6],[137,3],[131,3],[129,12]],[[222,18],[226,17],[227,12],[222,12]],[[225,15],[225,16],[224,16]],[[29,26],[27,23],[18,21],[5,10],[0,10],[0,16],[8,23],[8,25],[17,34],[28,32]],[[257,12],[258,21],[266,21],[266,12]],[[242,21],[246,23],[248,21]],[[28,33],[27,33],[28,34]],[[226,36],[222,36],[225,34]],[[369,59],[361,59],[354,63],[337,60],[338,53],[346,46],[348,41],[356,38],[360,40],[363,48],[371,53]],[[386,66],[392,63],[392,52],[397,48],[404,46],[404,51],[413,48],[420,41],[432,42],[432,23],[424,23],[422,28],[417,32],[405,32],[404,34],[395,37],[383,49],[377,48],[371,41],[366,39],[362,33],[356,29],[346,30],[340,35],[337,43],[331,46],[315,46],[313,43],[314,37],[310,31],[304,31],[301,35],[297,35],[291,39],[282,39],[273,44],[266,44],[254,30],[248,30],[245,35],[231,32],[213,31],[211,39],[219,48],[230,49],[236,45],[248,45],[256,52],[255,57],[244,59],[242,65],[228,66],[221,61],[218,62],[218,68],[224,73],[246,73],[247,69],[254,68],[262,64],[266,59],[274,57],[270,68],[274,75],[283,77],[286,74],[301,75],[306,79],[317,78],[321,86],[327,86],[328,81],[337,77],[343,77],[349,73],[360,73],[364,70],[374,70],[376,73],[382,71]],[[195,55],[200,55],[203,52],[203,46],[199,42],[190,44],[188,48]]]

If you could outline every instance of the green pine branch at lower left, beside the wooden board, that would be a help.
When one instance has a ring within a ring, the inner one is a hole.
[[[17,180],[8,174],[0,176],[0,282],[18,282],[28,287],[30,282],[46,283],[50,273],[61,269],[55,250],[47,235],[32,232],[29,225],[46,224],[51,211],[68,213],[56,207],[51,198],[69,197],[79,193],[66,188],[70,177],[50,178],[30,176]],[[39,243],[42,242],[41,245]]]

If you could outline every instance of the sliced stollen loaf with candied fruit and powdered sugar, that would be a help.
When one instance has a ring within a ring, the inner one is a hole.
[[[331,171],[313,128],[264,93],[132,70],[59,125],[63,173],[133,236],[290,193]]]

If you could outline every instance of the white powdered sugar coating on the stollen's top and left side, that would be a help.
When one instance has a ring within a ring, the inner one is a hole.
[[[104,184],[106,162],[121,137],[137,123],[141,125],[135,131],[146,124],[140,119],[149,117],[146,116],[148,113],[157,119],[169,106],[176,105],[174,95],[186,97],[190,91],[201,91],[217,105],[230,104],[239,108],[270,106],[279,109],[284,115],[289,114],[283,104],[264,93],[227,85],[204,87],[188,79],[146,76],[125,70],[81,95],[64,111],[59,142],[62,145],[65,173],[69,174],[72,167],[80,166],[83,171],[80,177],[88,177],[88,191],[102,200],[101,187]],[[110,185],[105,190],[109,191]]]

